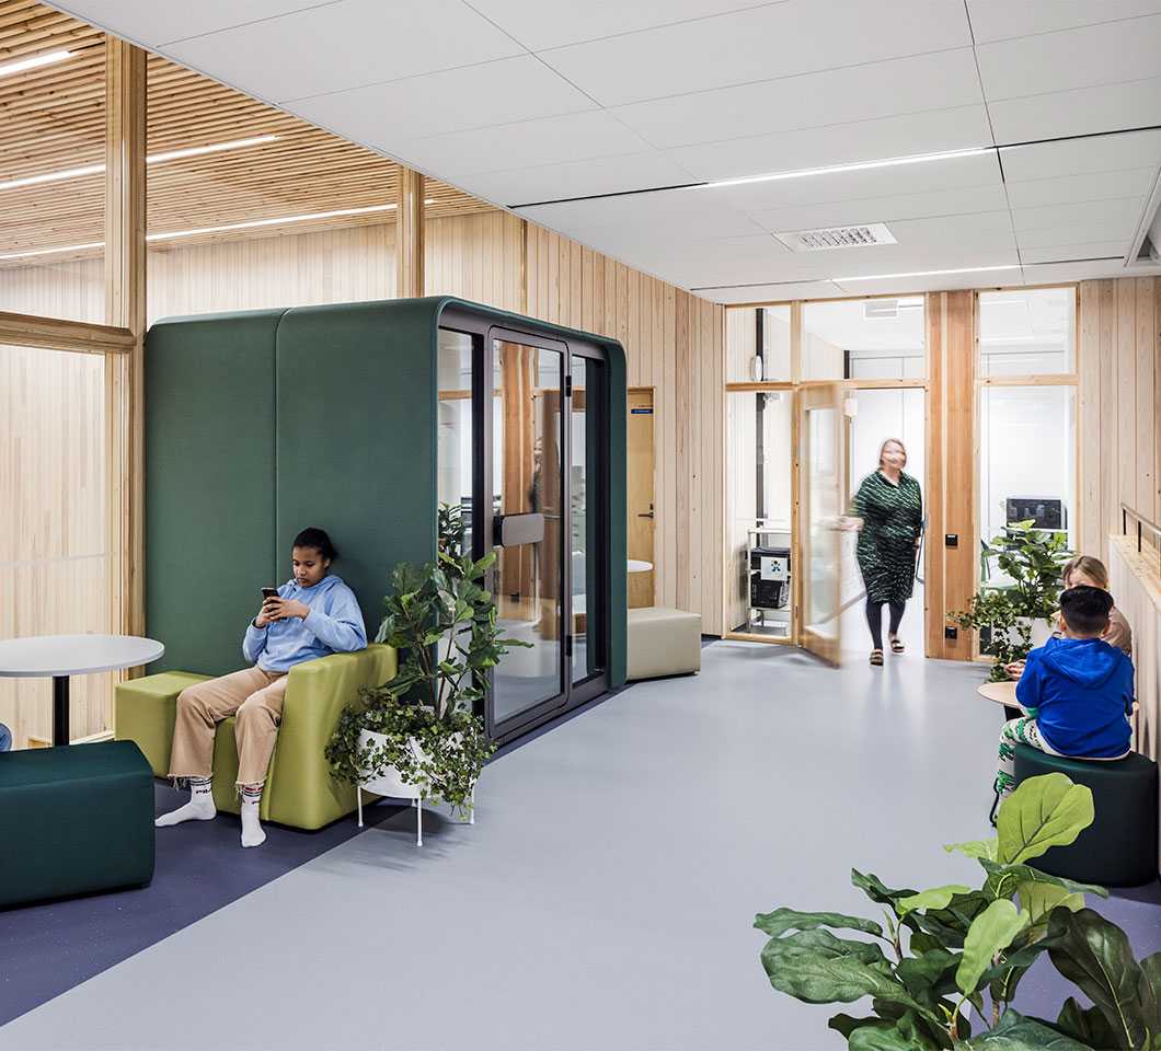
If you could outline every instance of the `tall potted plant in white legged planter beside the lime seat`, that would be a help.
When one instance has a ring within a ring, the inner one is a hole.
[[[441,515],[441,524],[453,519]],[[495,559],[490,552],[474,561],[441,535],[437,561],[396,566],[375,640],[399,652],[398,673],[361,691],[326,746],[334,776],[355,785],[360,799],[366,788],[416,800],[420,843],[424,799],[471,819],[476,781],[493,751],[475,705],[489,668],[509,647],[526,645],[504,638],[496,624],[496,606],[482,586]]]

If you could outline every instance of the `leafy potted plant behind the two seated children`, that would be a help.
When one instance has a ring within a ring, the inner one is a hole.
[[[995,660],[993,681],[1005,679],[1003,667],[1027,655],[1052,633],[1052,617],[1060,595],[1060,573],[1073,552],[1065,535],[1036,529],[1032,521],[1015,522],[983,545],[985,568],[993,563],[1011,584],[987,586],[972,596],[968,608],[952,614],[964,629],[980,632],[980,648]]]

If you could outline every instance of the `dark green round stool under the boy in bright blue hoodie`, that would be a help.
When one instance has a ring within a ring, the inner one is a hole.
[[[1102,886],[1140,886],[1158,878],[1158,767],[1133,752],[1112,761],[1046,755],[1016,746],[1016,781],[1067,774],[1093,790],[1096,817],[1076,842],[1053,847],[1032,864],[1053,876]]]

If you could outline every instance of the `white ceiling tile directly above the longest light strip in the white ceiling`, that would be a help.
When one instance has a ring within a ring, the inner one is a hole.
[[[699,179],[730,179],[989,145],[982,106],[859,121],[666,151]]]

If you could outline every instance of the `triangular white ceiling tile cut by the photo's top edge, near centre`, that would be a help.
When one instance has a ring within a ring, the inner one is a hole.
[[[473,0],[473,7],[532,51],[635,32],[755,7],[755,0]]]

